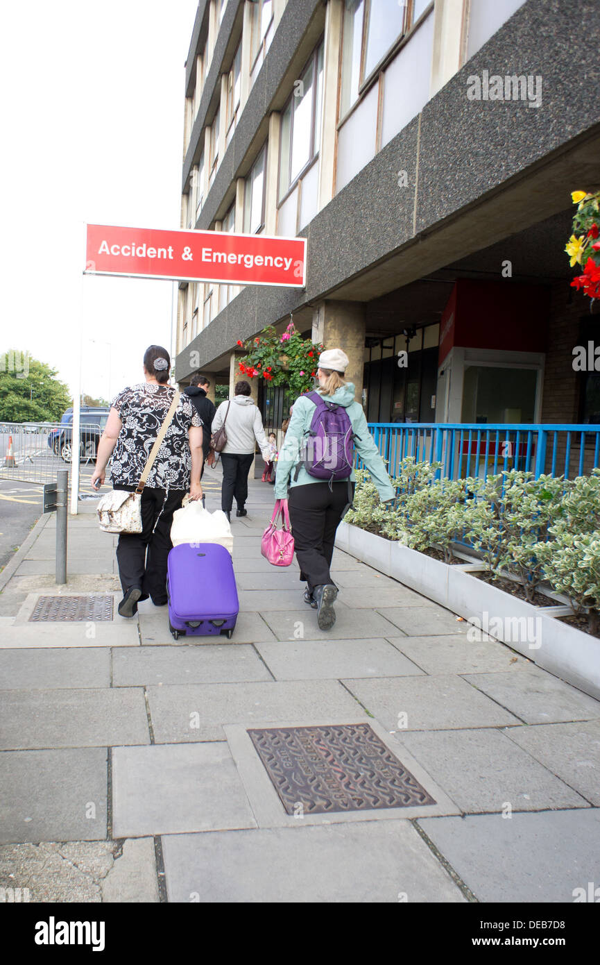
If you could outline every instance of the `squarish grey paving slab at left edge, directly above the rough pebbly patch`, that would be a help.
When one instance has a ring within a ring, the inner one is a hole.
[[[106,748],[0,754],[0,841],[106,838]]]

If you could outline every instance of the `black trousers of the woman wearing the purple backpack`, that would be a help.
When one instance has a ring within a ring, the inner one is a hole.
[[[350,483],[354,493],[354,483]],[[348,483],[306,483],[289,489],[287,507],[300,579],[314,587],[332,583],[329,567],[336,530],[348,505]],[[334,584],[335,586],[335,584]]]

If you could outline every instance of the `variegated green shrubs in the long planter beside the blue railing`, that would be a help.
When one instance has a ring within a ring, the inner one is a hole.
[[[542,582],[576,613],[600,620],[600,470],[572,482],[511,470],[487,480],[436,480],[438,463],[402,461],[395,507],[384,506],[366,470],[356,474],[346,521],[412,549],[470,542],[492,577],[508,571],[529,600]]]

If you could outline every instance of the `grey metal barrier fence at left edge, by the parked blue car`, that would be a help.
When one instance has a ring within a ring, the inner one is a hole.
[[[79,456],[83,466],[95,465],[98,422],[86,419],[79,432]],[[72,429],[61,423],[0,423],[0,479],[22,483],[52,483],[59,469],[67,469],[70,481]]]

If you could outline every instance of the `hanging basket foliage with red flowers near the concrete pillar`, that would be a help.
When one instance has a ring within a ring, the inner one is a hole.
[[[246,355],[239,361],[240,377],[263,378],[273,385],[285,386],[294,397],[313,386],[318,356],[323,350],[311,339],[303,339],[290,322],[283,335],[268,325],[259,338],[245,344],[238,341]]]

